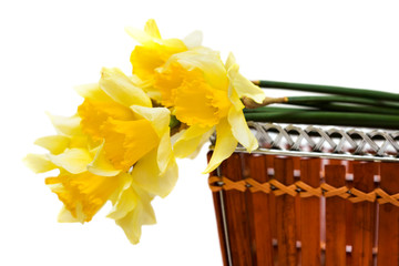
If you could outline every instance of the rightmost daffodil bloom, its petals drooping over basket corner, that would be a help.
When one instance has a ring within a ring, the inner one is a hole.
[[[177,156],[190,156],[204,142],[204,136],[216,130],[215,151],[205,173],[228,157],[238,142],[248,152],[257,147],[241,98],[262,103],[265,95],[238,72],[232,54],[223,64],[218,53],[206,48],[176,53],[157,70],[155,88],[161,92],[161,102],[190,126],[174,145]]]

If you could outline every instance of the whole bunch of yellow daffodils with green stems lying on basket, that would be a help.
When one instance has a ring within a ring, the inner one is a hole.
[[[45,184],[63,203],[60,222],[90,222],[110,201],[108,217],[139,243],[142,225],[155,223],[151,202],[165,197],[177,180],[176,157],[194,157],[216,132],[204,173],[215,170],[238,143],[258,147],[247,121],[399,129],[399,96],[369,90],[250,82],[233,54],[226,62],[201,45],[201,33],[162,39],[154,20],[144,31],[127,28],[140,44],[132,74],[104,68],[95,84],[78,86],[84,99],[72,116],[50,115],[58,134],[35,144],[47,154],[24,161],[35,173],[58,170]],[[326,95],[267,98],[260,88]],[[272,103],[297,108],[269,108]]]

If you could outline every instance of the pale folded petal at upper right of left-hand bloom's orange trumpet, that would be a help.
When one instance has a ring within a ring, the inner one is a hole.
[[[156,134],[162,137],[166,131],[170,130],[168,124],[171,120],[171,112],[165,108],[144,108],[133,105],[131,109],[140,114],[143,119],[147,120]]]

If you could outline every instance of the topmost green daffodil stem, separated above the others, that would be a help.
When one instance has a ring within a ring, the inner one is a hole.
[[[374,100],[386,100],[399,102],[399,94],[390,92],[381,92],[365,89],[352,89],[345,86],[331,86],[331,85],[317,85],[317,84],[305,84],[305,83],[291,83],[291,82],[279,82],[279,81],[266,81],[260,80],[254,82],[260,88],[274,88],[291,91],[307,91],[307,92],[319,92],[328,94],[348,95],[368,98]]]

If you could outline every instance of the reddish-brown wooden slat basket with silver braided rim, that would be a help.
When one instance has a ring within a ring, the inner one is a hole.
[[[399,265],[399,132],[249,125],[208,180],[224,265]]]

